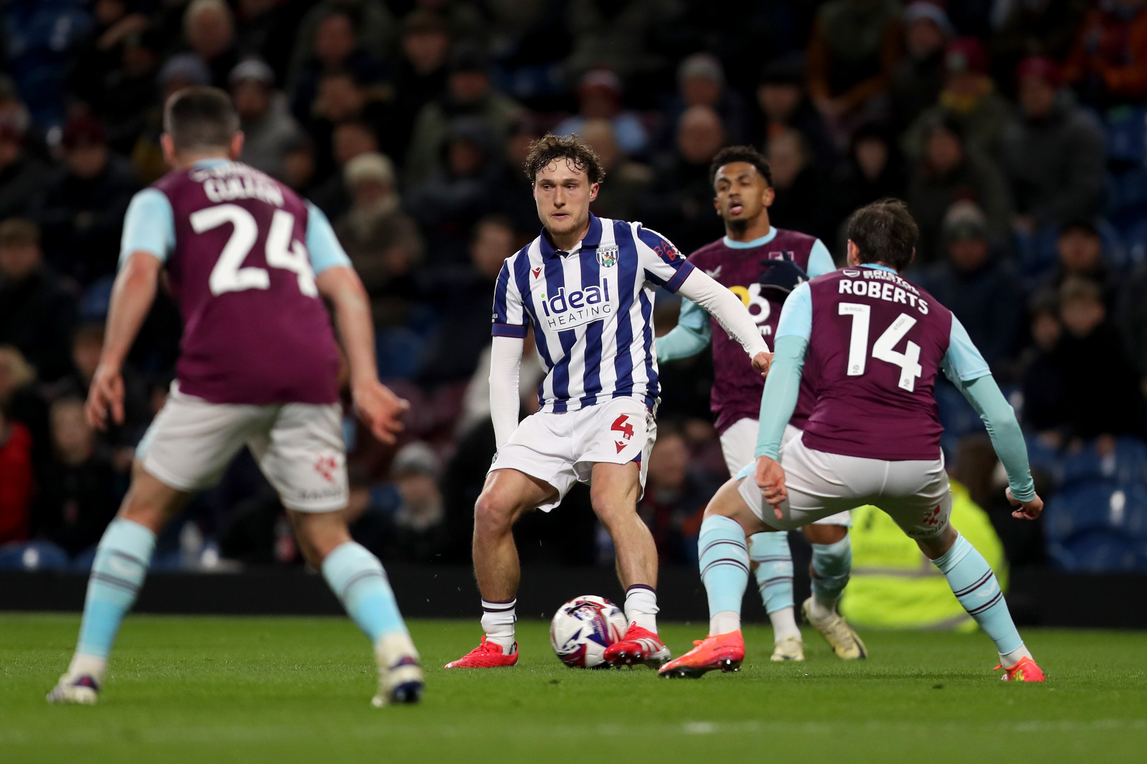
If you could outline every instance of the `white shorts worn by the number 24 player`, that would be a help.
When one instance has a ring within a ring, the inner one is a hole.
[[[243,446],[287,509],[334,512],[346,506],[346,448],[336,403],[209,403],[180,393],[173,383],[135,458],[159,481],[190,493],[219,482]]]

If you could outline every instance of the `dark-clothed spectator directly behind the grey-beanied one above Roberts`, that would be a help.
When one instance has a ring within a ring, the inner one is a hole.
[[[966,148],[954,117],[933,118],[923,131],[923,157],[908,181],[907,203],[920,226],[916,263],[930,265],[941,252],[944,215],[961,199],[975,202],[988,219],[988,233],[1004,241],[1012,220],[1007,181],[988,157]]]

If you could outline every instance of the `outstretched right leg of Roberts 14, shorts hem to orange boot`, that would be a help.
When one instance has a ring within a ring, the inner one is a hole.
[[[885,511],[944,574],[960,605],[996,643],[1000,656],[997,668],[1006,670],[1004,679],[1043,682],[1044,674],[1012,621],[1004,590],[991,566],[950,523],[952,494],[943,463],[937,459],[926,465],[920,462],[894,464],[897,468],[889,473],[889,488],[899,488],[905,499],[888,502]],[[924,474],[923,485],[921,474]],[[913,483],[916,490],[910,494]]]

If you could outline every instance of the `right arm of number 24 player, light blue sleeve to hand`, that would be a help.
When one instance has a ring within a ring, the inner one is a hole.
[[[351,367],[354,411],[375,438],[393,443],[403,431],[399,417],[411,404],[379,381],[370,299],[327,216],[310,203],[307,210],[306,249],[315,274],[314,284],[334,307],[335,326]]]

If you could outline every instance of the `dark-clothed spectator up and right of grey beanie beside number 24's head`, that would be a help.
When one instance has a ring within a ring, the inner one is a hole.
[[[311,113],[319,81],[331,72],[349,73],[359,87],[368,90],[364,94],[367,101],[391,95],[389,84],[383,85],[389,76],[387,65],[359,45],[351,17],[341,10],[331,10],[319,22],[311,58],[289,84],[297,116]]]

